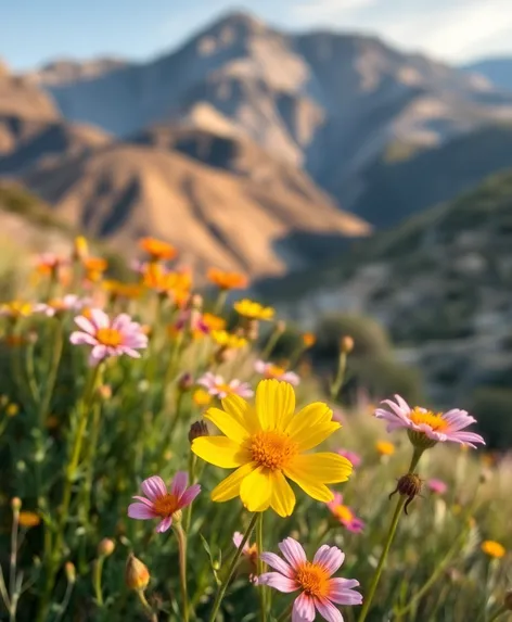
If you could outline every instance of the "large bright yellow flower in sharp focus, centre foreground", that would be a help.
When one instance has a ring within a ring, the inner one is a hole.
[[[192,450],[223,469],[236,469],[213,491],[214,502],[240,496],[248,511],[271,507],[287,517],[295,494],[287,479],[319,502],[331,502],[325,484],[344,482],[350,462],[337,454],[306,454],[341,428],[327,404],[316,402],[295,412],[294,389],[287,382],[263,380],[252,406],[238,395],[222,399],[222,408],[209,408],[205,418],[226,436],[201,436]],[[287,479],[286,479],[287,478]]]

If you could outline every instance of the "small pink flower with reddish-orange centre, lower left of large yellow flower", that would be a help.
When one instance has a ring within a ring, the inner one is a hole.
[[[144,480],[141,484],[144,497],[135,496],[139,503],[128,506],[128,516],[133,519],[149,520],[162,519],[156,531],[163,533],[172,524],[172,519],[177,518],[176,512],[181,511],[195,499],[201,493],[200,484],[187,487],[189,475],[184,471],[178,471],[170,485],[170,492],[162,478],[153,475]]]

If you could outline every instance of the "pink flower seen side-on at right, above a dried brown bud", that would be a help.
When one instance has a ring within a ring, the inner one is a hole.
[[[409,433],[415,432],[435,443],[451,441],[473,448],[476,448],[473,443],[483,443],[485,445],[485,441],[479,434],[462,431],[471,423],[476,422],[476,419],[468,415],[465,410],[453,408],[448,410],[448,412],[433,412],[419,406],[411,408],[399,395],[395,395],[395,399],[396,403],[392,399],[383,402],[389,410],[385,408],[375,410],[375,417],[385,419],[388,422],[388,432],[406,428]]]

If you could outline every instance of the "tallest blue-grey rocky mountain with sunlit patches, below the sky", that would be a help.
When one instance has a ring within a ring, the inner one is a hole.
[[[209,111],[230,131],[303,166],[355,213],[369,169],[394,145],[435,150],[512,119],[512,93],[482,76],[373,37],[287,34],[240,12],[171,53],[47,89],[66,118],[123,138]]]

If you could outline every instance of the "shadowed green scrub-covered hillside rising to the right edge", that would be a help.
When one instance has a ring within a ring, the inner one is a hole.
[[[468,404],[512,372],[512,169],[323,267],[259,285],[279,313],[313,325],[325,312],[363,312],[419,366],[431,397]]]

